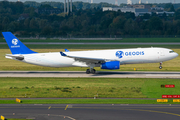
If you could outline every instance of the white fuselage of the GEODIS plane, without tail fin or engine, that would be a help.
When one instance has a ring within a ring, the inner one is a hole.
[[[119,52],[118,52],[119,51]],[[166,48],[136,48],[136,49],[112,49],[94,51],[64,52],[70,56],[97,58],[120,61],[120,64],[157,63],[171,60],[178,56],[171,49]],[[61,56],[60,52],[23,54],[22,62],[47,67],[89,67],[89,64],[78,62],[74,58]],[[13,59],[11,57],[7,57]],[[101,64],[96,64],[100,67]]]

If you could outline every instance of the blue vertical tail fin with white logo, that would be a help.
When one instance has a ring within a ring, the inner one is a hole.
[[[2,32],[9,49],[12,54],[32,54],[36,53],[26,47],[20,40],[18,40],[11,32]]]

